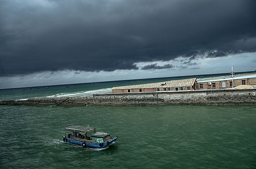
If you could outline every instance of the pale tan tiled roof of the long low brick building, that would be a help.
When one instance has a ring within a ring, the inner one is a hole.
[[[192,86],[195,82],[195,78],[192,79],[182,79],[182,80],[173,80],[152,84],[137,84],[137,85],[126,85],[119,87],[112,87],[113,90],[118,89],[142,89],[142,88],[161,88],[161,87],[186,87]]]

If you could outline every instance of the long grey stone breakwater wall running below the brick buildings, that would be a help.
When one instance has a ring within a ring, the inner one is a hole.
[[[256,105],[256,89],[96,94],[89,97],[30,98],[0,105]]]

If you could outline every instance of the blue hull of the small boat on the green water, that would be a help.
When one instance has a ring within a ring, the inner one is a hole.
[[[112,137],[110,141],[102,142],[102,143],[95,143],[95,142],[86,142],[86,141],[76,141],[72,138],[67,138],[65,136],[62,136],[62,137],[66,142],[69,142],[71,144],[80,145],[83,147],[93,147],[93,148],[104,148],[108,145],[111,145],[114,141],[117,140],[117,137]]]

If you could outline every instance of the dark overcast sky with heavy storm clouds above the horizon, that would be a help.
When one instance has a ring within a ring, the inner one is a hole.
[[[0,88],[256,70],[256,0],[0,0]]]

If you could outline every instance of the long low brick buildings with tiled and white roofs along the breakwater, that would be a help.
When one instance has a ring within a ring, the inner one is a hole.
[[[256,85],[256,73],[207,79],[181,79],[151,84],[112,87],[112,93],[140,93],[158,91],[226,89],[238,85]]]

